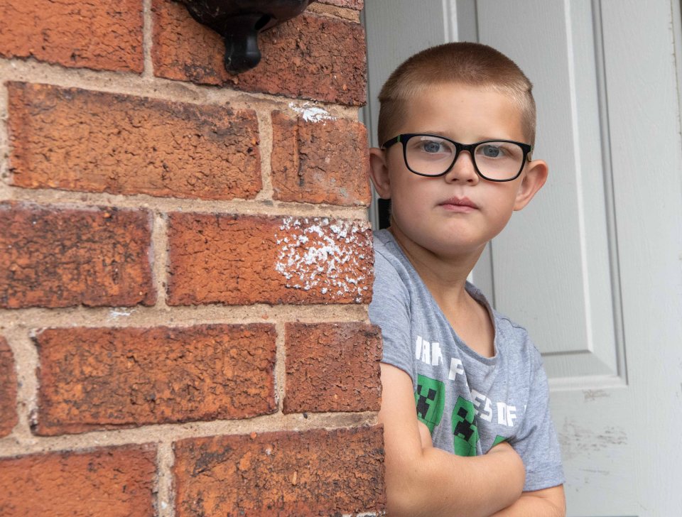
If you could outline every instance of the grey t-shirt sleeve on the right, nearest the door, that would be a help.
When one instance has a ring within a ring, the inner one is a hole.
[[[541,490],[563,484],[556,430],[549,410],[549,388],[542,366],[542,358],[535,347],[532,349],[530,393],[524,422],[511,446],[519,453],[526,467],[524,491]]]

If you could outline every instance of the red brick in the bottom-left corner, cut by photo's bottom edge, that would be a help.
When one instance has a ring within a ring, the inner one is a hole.
[[[151,445],[0,459],[0,515],[153,516],[155,478]]]

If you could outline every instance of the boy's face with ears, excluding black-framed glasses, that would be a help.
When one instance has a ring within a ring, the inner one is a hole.
[[[412,99],[396,135],[404,133],[435,134],[460,143],[525,143],[520,109],[509,97],[456,84],[432,87]],[[408,170],[401,143],[370,152],[372,181],[379,196],[391,199],[396,237],[401,244],[416,244],[443,257],[480,254],[547,176],[547,165],[534,160],[515,180],[488,181],[477,175],[470,154],[462,151],[447,174],[428,178]]]

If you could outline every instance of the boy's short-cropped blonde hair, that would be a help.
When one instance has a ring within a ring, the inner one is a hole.
[[[379,92],[379,145],[396,136],[410,99],[429,87],[455,83],[492,89],[519,105],[526,143],[535,143],[536,107],[533,85],[514,61],[482,43],[445,43],[408,58],[394,70]]]

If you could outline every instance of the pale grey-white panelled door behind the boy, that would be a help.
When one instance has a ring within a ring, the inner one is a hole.
[[[429,45],[487,43],[534,82],[550,178],[473,276],[543,352],[570,516],[682,516],[678,1],[365,1],[370,131]]]

